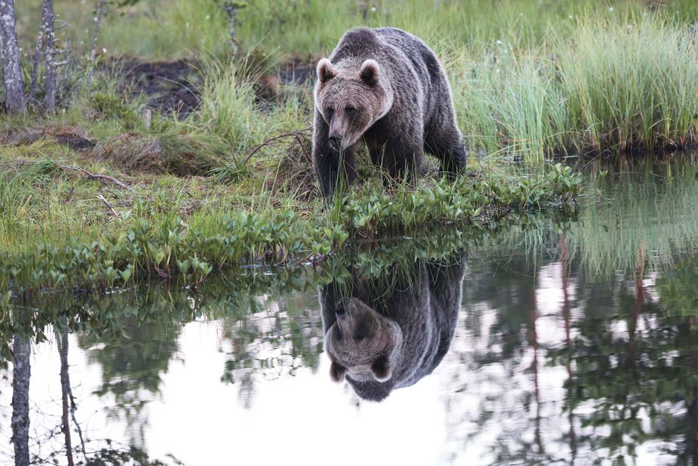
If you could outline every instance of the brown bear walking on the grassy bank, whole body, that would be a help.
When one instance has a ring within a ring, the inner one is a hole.
[[[339,180],[356,179],[362,141],[392,179],[415,175],[423,152],[450,176],[465,166],[446,74],[419,38],[392,27],[352,29],[317,72],[313,165],[328,200]]]

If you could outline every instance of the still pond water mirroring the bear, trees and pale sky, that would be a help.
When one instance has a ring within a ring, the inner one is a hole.
[[[693,162],[315,270],[15,308],[33,317],[1,349],[0,463],[28,382],[33,464],[68,464],[66,440],[94,465],[698,464]]]

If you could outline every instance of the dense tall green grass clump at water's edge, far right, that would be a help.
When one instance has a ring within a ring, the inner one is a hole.
[[[648,150],[695,142],[698,46],[662,17],[595,17],[552,33],[579,145]]]

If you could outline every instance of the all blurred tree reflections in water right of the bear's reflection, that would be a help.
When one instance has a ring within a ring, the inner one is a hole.
[[[698,262],[654,286],[641,250],[637,278],[610,286],[577,275],[565,245],[559,262],[471,259],[450,451],[482,442],[497,464],[623,464],[641,447],[698,464]]]

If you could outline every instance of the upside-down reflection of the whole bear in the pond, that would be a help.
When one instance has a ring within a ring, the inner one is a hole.
[[[320,290],[325,351],[334,381],[364,400],[431,374],[450,347],[461,304],[465,256],[418,260],[410,270],[333,282]]]

